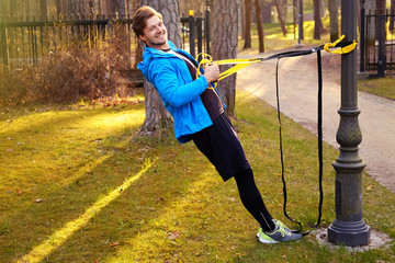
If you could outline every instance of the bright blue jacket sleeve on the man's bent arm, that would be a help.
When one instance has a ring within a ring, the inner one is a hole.
[[[204,76],[187,84],[180,84],[184,80],[179,80],[178,72],[172,67],[170,59],[156,59],[150,64],[149,71],[151,83],[157,88],[165,102],[172,106],[182,106],[193,101],[208,87]]]

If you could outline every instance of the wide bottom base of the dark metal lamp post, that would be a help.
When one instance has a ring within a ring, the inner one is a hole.
[[[335,244],[349,247],[368,245],[370,237],[370,226],[363,220],[348,222],[335,219],[328,228],[328,241]]]

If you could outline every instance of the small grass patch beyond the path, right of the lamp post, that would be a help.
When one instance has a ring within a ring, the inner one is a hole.
[[[395,78],[359,80],[358,89],[379,96],[395,100]]]

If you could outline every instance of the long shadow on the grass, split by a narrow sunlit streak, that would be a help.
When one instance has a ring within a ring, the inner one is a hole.
[[[7,217],[10,232],[2,235],[1,254],[5,259],[15,260],[47,242],[47,237],[76,220],[94,202],[115,191],[125,178],[137,173],[145,159],[159,158],[129,188],[123,190],[101,211],[91,215],[90,220],[65,237],[58,250],[44,258],[54,262],[72,262],[77,258],[78,262],[95,261],[98,256],[113,252],[112,242],[123,242],[125,236],[138,235],[149,221],[160,217],[167,209],[167,204],[182,198],[188,192],[188,185],[199,180],[202,171],[185,174],[184,168],[177,164],[192,162],[195,158],[180,160],[171,151],[160,152],[144,141],[126,140],[127,146],[112,149],[114,153],[93,169],[88,169],[68,185],[41,196],[42,203],[31,202],[27,207]],[[133,149],[128,150],[126,147]],[[132,155],[139,150],[140,156]],[[173,169],[174,175],[160,176],[168,169]]]

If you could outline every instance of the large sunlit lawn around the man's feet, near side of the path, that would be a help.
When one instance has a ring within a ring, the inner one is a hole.
[[[246,93],[237,94],[236,105],[234,125],[257,184],[273,216],[286,221],[276,113]],[[172,135],[138,137],[143,103],[8,108],[0,116],[1,262],[31,251],[36,262],[395,261],[394,243],[363,253],[319,247],[312,236],[259,243],[235,182],[223,183],[193,144],[179,145]],[[318,203],[316,137],[285,117],[283,125],[289,213],[308,227]],[[324,152],[328,227],[335,219],[330,163],[338,151],[325,145]],[[363,180],[364,220],[395,238],[395,195]]]

